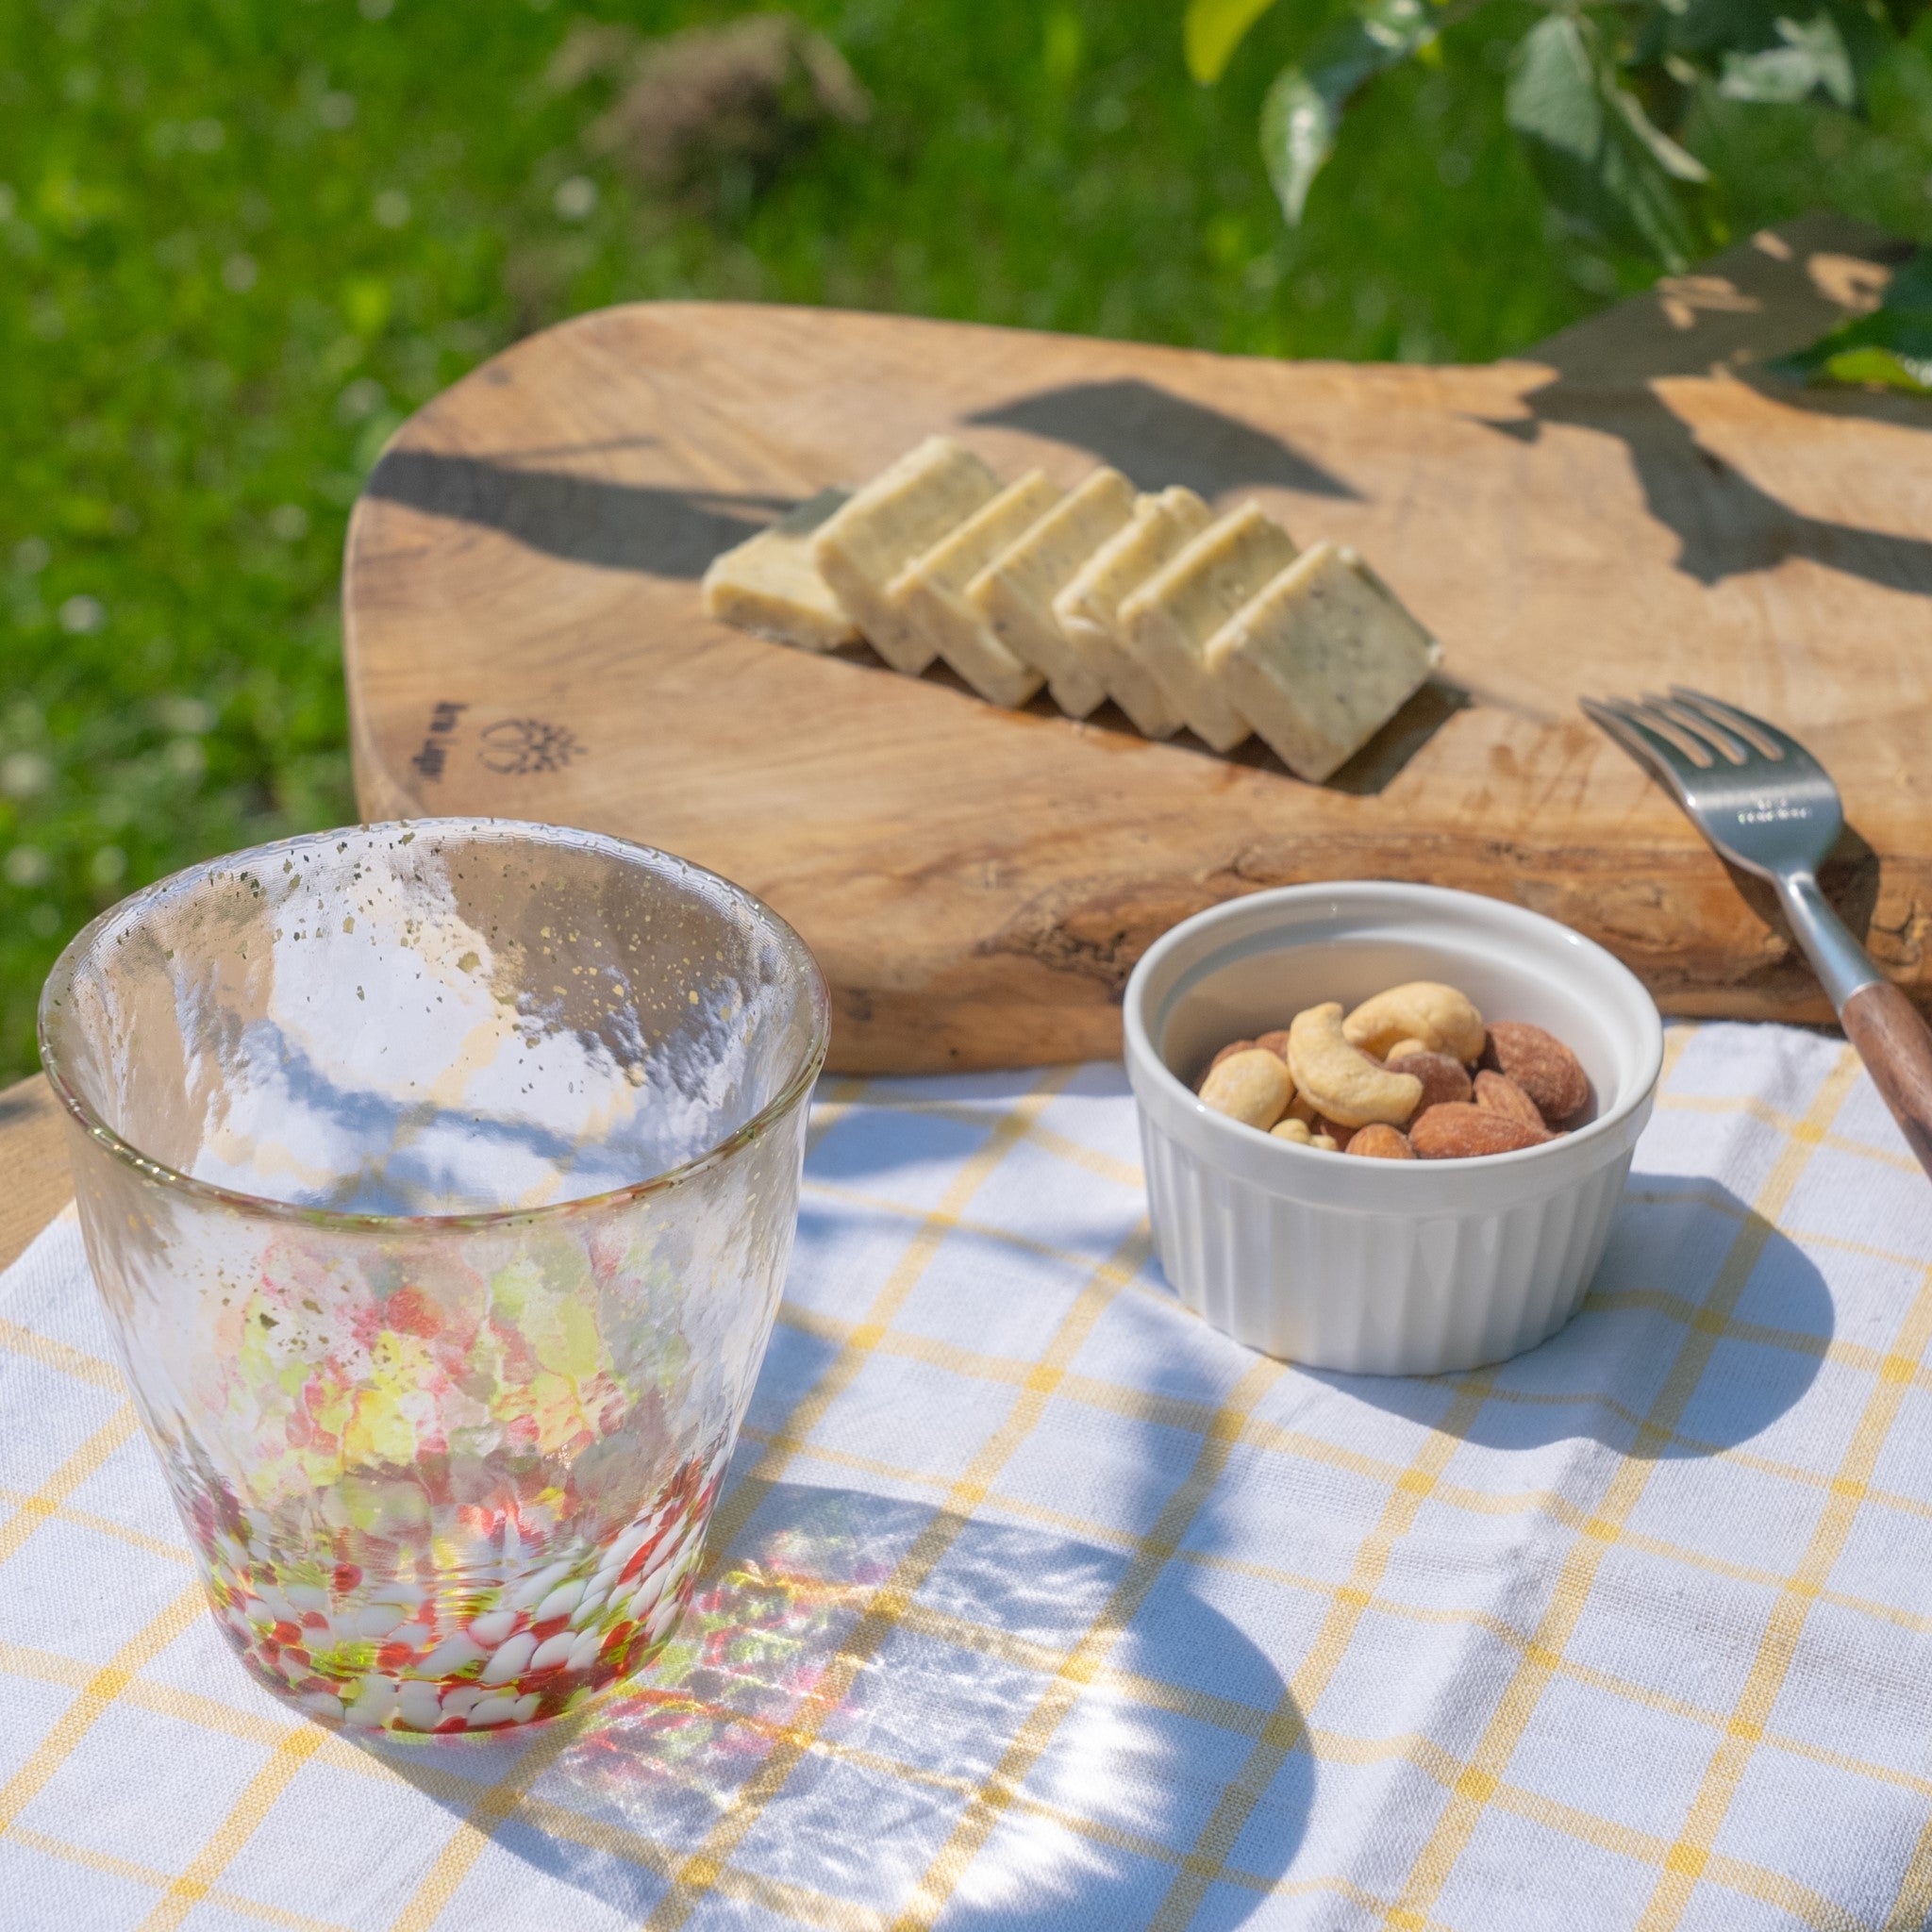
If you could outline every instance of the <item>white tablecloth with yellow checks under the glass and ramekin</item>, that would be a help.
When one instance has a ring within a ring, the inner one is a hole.
[[[1350,1379],[1177,1308],[1117,1066],[827,1082],[676,1650],[413,1748],[224,1648],[64,1217],[0,1277],[0,1924],[1918,1928],[1928,1208],[1843,1045],[1677,1028],[1578,1320]]]

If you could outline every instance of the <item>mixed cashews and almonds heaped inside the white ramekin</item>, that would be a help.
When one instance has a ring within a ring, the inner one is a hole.
[[[1522,1020],[1484,1022],[1474,1001],[1410,980],[1343,1012],[1294,1014],[1285,1032],[1225,1045],[1202,1103],[1277,1140],[1381,1161],[1515,1153],[1578,1124],[1582,1063]]]

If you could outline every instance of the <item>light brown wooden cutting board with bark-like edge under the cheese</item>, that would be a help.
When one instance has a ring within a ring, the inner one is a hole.
[[[355,506],[361,810],[568,821],[738,879],[823,962],[846,1070],[1115,1053],[1165,927],[1360,875],[1553,914],[1675,1012],[1826,1018],[1768,895],[1577,715],[1679,680],[1826,761],[1853,827],[1828,889],[1932,995],[1932,408],[1748,367],[1870,299],[1872,240],[1793,224],[1480,369],[732,303],[580,317],[421,410]],[[1005,713],[703,618],[717,551],[933,431],[1005,475],[1103,460],[1354,543],[1443,672],[1318,788],[1258,746]]]

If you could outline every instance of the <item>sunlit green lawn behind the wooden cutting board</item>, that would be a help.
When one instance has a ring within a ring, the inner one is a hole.
[[[193,858],[354,815],[336,626],[384,437],[518,334],[639,296],[831,301],[1277,355],[1486,359],[1640,286],[1555,236],[1501,128],[1519,0],[1350,122],[1283,230],[1254,122],[1320,12],[1215,91],[1179,0],[802,4],[877,112],[707,214],[541,87],[566,6],[0,0],[0,1080],[60,943]],[[595,6],[663,31],[732,6]],[[369,17],[375,15],[375,17]],[[1878,131],[1733,110],[1743,232],[1918,232],[1932,66]],[[1750,114],[1758,118],[1750,118]],[[564,182],[595,184],[558,197]],[[562,209],[576,211],[568,218]]]

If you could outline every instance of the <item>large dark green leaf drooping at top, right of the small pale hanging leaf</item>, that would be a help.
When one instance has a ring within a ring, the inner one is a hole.
[[[1604,242],[1640,247],[1671,269],[1690,259],[1677,182],[1704,166],[1617,85],[1596,27],[1549,14],[1519,43],[1505,99],[1557,213]]]

